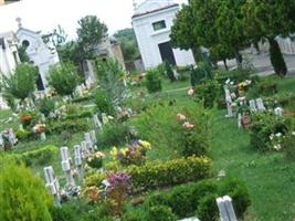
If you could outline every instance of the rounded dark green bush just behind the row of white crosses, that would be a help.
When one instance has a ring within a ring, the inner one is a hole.
[[[97,134],[98,146],[109,148],[128,143],[131,139],[130,128],[126,124],[113,122]]]

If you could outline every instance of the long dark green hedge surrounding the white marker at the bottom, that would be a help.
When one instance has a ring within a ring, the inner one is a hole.
[[[202,180],[193,185],[183,185],[160,191],[148,197],[143,209],[168,207],[179,219],[197,217],[201,220],[218,220],[219,212],[215,199],[230,196],[239,220],[251,204],[245,185],[238,179]]]

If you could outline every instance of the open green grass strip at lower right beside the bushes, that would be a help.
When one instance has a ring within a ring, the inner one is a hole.
[[[283,221],[295,217],[295,162],[282,154],[262,154],[249,146],[247,133],[235,119],[214,112],[211,120],[213,168],[245,181],[252,207],[249,220]]]

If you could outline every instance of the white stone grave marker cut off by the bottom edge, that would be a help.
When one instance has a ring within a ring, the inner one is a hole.
[[[233,207],[232,199],[229,196],[217,199],[220,221],[238,221]]]

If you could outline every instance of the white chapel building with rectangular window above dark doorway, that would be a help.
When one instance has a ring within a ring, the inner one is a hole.
[[[191,51],[172,49],[170,44],[170,29],[179,10],[180,6],[173,0],[146,0],[135,4],[133,27],[146,70],[164,61],[178,66],[194,64]]]

